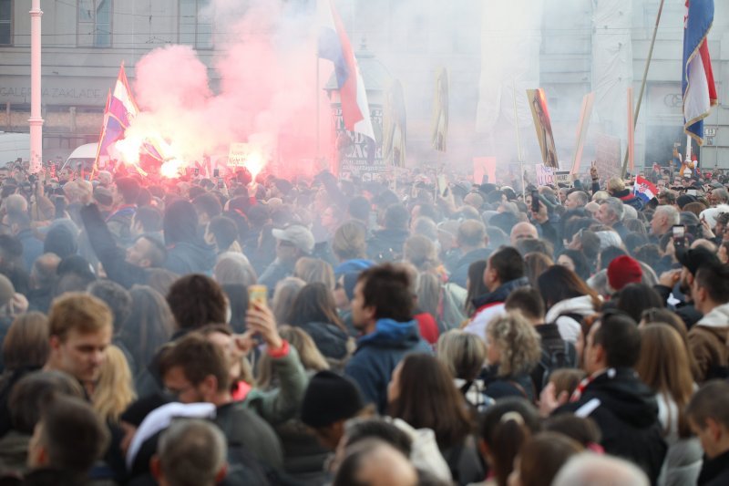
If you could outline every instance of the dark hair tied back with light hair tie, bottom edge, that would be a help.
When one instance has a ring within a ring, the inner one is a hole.
[[[478,433],[491,451],[499,485],[507,483],[521,446],[539,427],[539,412],[525,398],[501,398],[487,408]]]

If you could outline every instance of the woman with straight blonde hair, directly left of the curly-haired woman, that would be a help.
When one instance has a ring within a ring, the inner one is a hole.
[[[478,378],[486,363],[486,346],[481,338],[451,329],[438,338],[436,357],[446,365],[468,403],[479,412],[484,411],[491,401],[484,395],[484,381]]]

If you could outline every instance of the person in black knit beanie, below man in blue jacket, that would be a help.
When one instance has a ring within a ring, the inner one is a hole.
[[[335,450],[344,436],[344,422],[366,415],[367,411],[354,381],[324,370],[309,381],[303,395],[301,418],[313,429],[323,447]]]

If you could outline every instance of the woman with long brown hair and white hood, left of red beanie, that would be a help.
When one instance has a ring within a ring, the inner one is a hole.
[[[562,265],[551,266],[537,278],[537,288],[547,306],[545,320],[560,328],[565,341],[574,344],[580,335],[580,322],[598,312],[600,296],[580,277]]]

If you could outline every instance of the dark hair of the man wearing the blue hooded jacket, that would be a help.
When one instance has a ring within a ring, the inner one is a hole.
[[[375,307],[375,319],[406,322],[413,318],[413,294],[410,276],[393,264],[381,264],[364,270],[357,278],[362,284],[364,306]]]

